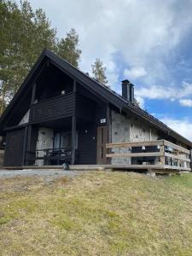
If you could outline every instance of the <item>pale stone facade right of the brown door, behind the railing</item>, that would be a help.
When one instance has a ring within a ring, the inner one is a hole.
[[[158,138],[157,130],[135,117],[127,117],[112,111],[111,142],[129,143],[153,141]],[[113,148],[113,153],[129,153],[129,148]],[[131,158],[112,158],[113,165],[131,164]]]

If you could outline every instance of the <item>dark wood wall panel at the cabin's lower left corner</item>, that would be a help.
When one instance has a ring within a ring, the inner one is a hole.
[[[24,137],[25,128],[7,133],[4,166],[22,166]]]

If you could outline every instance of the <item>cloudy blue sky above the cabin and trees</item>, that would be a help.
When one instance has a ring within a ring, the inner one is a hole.
[[[81,70],[100,58],[113,90],[129,79],[143,109],[192,141],[192,0],[29,2],[58,38],[75,28]]]

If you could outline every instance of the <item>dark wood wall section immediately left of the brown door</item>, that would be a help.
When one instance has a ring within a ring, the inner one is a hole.
[[[78,131],[79,165],[96,164],[96,125],[82,125]]]

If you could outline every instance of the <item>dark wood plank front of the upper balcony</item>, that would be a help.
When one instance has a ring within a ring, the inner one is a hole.
[[[53,119],[66,118],[75,113],[75,93],[50,98],[32,105],[30,122],[32,124]]]

